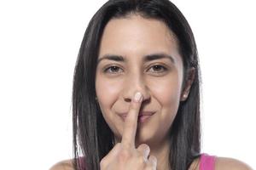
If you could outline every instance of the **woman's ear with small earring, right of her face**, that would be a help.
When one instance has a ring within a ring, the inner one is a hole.
[[[181,96],[180,96],[180,101],[184,101],[188,98],[190,88],[192,86],[192,83],[194,82],[194,79],[195,79],[195,67],[191,67],[189,69],[189,77],[185,81],[185,86],[184,86],[183,92],[181,93]]]

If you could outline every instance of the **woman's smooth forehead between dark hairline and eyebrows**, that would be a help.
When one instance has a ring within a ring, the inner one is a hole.
[[[104,54],[150,53],[178,55],[177,39],[163,21],[139,15],[109,20],[102,34],[99,58]]]

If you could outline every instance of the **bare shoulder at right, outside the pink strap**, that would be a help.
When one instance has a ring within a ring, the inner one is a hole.
[[[229,157],[217,157],[215,162],[216,170],[253,170],[245,162]]]

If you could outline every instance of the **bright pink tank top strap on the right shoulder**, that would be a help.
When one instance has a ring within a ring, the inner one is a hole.
[[[216,156],[209,156],[201,154],[199,169],[200,170],[214,170]]]

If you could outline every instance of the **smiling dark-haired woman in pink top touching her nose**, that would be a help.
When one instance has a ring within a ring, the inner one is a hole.
[[[52,169],[250,169],[201,154],[200,138],[200,66],[183,14],[168,0],[105,3],[74,73],[74,159]]]

